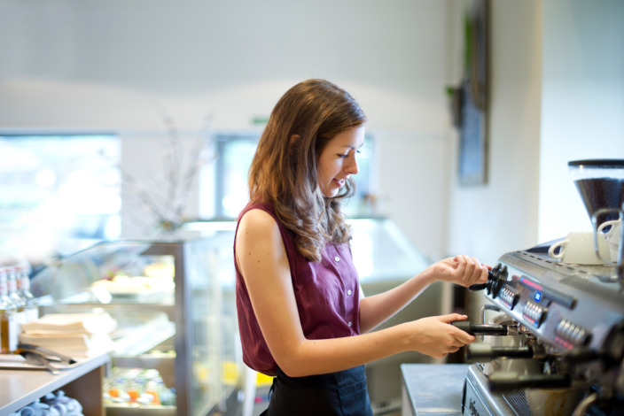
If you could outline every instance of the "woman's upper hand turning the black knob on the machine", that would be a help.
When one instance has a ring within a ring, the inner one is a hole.
[[[492,266],[486,266],[477,258],[456,256],[445,258],[432,266],[433,279],[436,281],[450,281],[465,287],[487,281],[487,271]]]

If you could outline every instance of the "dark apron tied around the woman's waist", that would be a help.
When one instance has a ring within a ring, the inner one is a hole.
[[[277,369],[269,409],[261,416],[372,416],[364,366],[289,377]]]

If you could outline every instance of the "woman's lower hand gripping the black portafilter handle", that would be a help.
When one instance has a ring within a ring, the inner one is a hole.
[[[408,349],[433,358],[444,358],[450,352],[459,351],[464,345],[472,343],[475,337],[450,323],[466,319],[465,315],[449,313],[405,323],[409,331],[406,339]]]

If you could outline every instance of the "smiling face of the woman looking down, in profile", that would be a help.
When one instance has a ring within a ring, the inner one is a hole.
[[[364,143],[364,126],[340,132],[318,158],[318,187],[326,197],[338,195],[347,178],[359,172],[355,155]]]

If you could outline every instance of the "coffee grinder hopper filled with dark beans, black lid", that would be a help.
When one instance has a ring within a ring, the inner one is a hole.
[[[624,266],[624,229],[621,226],[624,219],[624,159],[574,160],[567,165],[595,230],[608,232],[612,226],[603,228],[605,223],[620,223],[617,263],[621,276]]]

